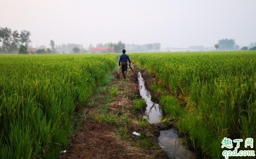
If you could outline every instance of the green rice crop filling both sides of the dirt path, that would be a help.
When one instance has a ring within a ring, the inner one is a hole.
[[[167,91],[160,99],[166,117],[203,154],[223,158],[224,137],[256,138],[256,52],[129,55]],[[0,158],[57,157],[75,110],[90,102],[118,56],[0,56]]]

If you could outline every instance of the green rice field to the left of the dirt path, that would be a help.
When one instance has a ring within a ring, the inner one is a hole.
[[[117,55],[0,56],[0,158],[55,158]]]

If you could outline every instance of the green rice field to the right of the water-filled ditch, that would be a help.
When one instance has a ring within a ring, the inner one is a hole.
[[[223,158],[224,137],[256,138],[256,52],[143,53],[132,58],[168,89],[160,99],[164,112],[178,118],[178,129],[204,154]]]

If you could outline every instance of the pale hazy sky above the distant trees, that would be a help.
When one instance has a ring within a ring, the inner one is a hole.
[[[162,47],[256,42],[255,0],[0,0],[0,27],[30,30],[32,45],[118,42]]]

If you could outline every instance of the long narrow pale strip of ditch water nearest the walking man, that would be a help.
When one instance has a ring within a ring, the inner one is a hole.
[[[146,101],[147,107],[145,115],[143,118],[148,119],[150,124],[159,123],[162,118],[162,111],[158,103],[154,103],[151,100],[150,92],[145,86],[145,81],[141,76],[141,72],[138,72],[138,84],[139,84],[139,93],[142,98]]]

